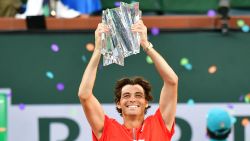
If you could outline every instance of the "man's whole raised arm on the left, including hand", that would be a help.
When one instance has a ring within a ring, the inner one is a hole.
[[[95,50],[86,67],[79,87],[78,96],[80,98],[84,113],[88,122],[99,139],[104,127],[104,111],[101,104],[93,95],[93,87],[96,79],[96,72],[100,61],[101,53],[101,33],[108,32],[107,27],[99,24],[95,31]]]

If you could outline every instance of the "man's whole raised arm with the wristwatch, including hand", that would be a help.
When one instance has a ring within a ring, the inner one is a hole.
[[[132,31],[140,33],[141,46],[154,62],[158,73],[164,81],[160,94],[159,107],[165,125],[170,130],[176,114],[178,77],[165,59],[152,48],[151,43],[147,39],[147,27],[143,22],[139,21],[132,26]]]

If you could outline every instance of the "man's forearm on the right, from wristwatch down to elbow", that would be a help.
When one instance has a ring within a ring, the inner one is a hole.
[[[142,47],[147,48],[148,45],[143,45]],[[146,53],[154,62],[154,65],[163,81],[168,84],[177,84],[178,77],[165,59],[154,48],[148,49]]]

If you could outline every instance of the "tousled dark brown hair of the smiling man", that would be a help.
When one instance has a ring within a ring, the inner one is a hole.
[[[136,85],[136,84],[140,85],[143,88],[144,93],[145,93],[145,99],[147,101],[152,101],[153,96],[151,95],[151,90],[152,90],[151,84],[147,80],[145,80],[143,77],[135,76],[131,78],[125,77],[116,82],[115,90],[114,90],[115,103],[117,104],[120,101],[121,91],[125,85]],[[145,114],[147,113],[147,109],[149,109],[150,107],[151,106],[146,107]],[[120,113],[120,115],[122,115],[121,109],[116,107],[116,110],[118,111],[118,113]]]

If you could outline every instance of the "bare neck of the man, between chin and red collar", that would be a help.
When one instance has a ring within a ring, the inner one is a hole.
[[[125,127],[127,127],[128,129],[139,128],[143,124],[144,116],[141,117],[123,116],[123,121]]]

